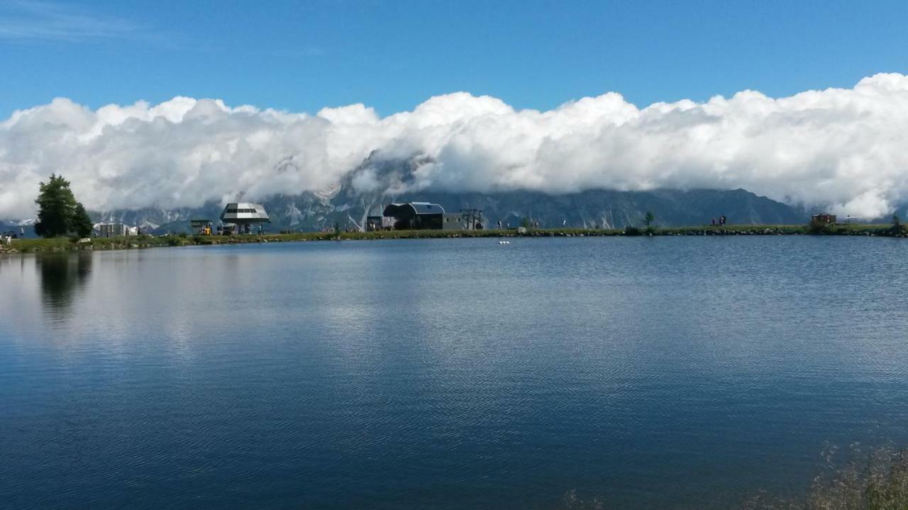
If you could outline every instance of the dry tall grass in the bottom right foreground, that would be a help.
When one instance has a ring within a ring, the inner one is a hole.
[[[834,461],[836,448],[823,453],[822,472],[804,495],[782,498],[760,493],[736,506],[739,510],[906,510],[908,509],[908,451],[882,447],[869,454],[853,448],[847,462]],[[717,508],[706,503],[708,508]],[[566,510],[617,509],[601,499],[585,500],[576,491],[564,495]],[[668,510],[666,508],[666,510]]]

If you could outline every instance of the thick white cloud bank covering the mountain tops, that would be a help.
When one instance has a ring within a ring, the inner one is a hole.
[[[373,152],[421,156],[414,191],[745,188],[878,217],[908,201],[908,76],[642,109],[617,93],[548,112],[450,93],[384,118],[362,104],[311,115],[185,97],[97,111],[55,99],[0,121],[0,218],[32,216],[51,172],[91,210],[170,209],[329,191]],[[353,184],[380,185],[368,169]]]

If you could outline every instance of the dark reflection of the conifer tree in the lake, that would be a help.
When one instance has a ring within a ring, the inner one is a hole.
[[[92,254],[45,254],[35,257],[35,264],[41,274],[44,309],[64,312],[70,308],[74,295],[91,275]]]

